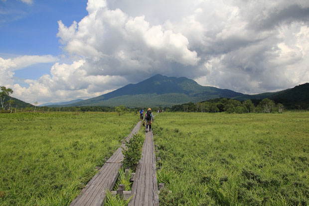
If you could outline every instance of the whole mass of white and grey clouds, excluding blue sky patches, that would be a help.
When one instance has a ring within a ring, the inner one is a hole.
[[[157,73],[250,94],[309,82],[308,0],[88,0],[86,9],[79,22],[58,21],[73,62],[17,85],[20,94],[90,98]],[[26,64],[0,61],[10,78]]]

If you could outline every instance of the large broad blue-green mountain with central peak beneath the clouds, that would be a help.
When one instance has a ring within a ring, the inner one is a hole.
[[[243,95],[231,90],[201,86],[185,77],[166,77],[157,74],[147,80],[129,84],[105,95],[61,106],[172,106]],[[60,107],[60,105],[49,106]]]

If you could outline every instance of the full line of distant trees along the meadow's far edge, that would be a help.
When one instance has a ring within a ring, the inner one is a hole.
[[[116,111],[119,115],[124,114],[126,111],[135,111],[138,113],[140,107],[129,108],[123,105],[116,107],[109,106],[72,106],[72,107],[48,107],[48,106],[36,106],[29,103],[24,103],[18,99],[12,100],[9,95],[13,93],[13,90],[6,87],[0,87],[0,112],[45,112],[45,111]],[[17,108],[18,107],[18,108]],[[164,111],[185,111],[185,112],[227,112],[227,113],[249,113],[249,112],[279,112],[281,113],[285,106],[282,103],[275,103],[273,100],[245,100],[238,101],[226,98],[218,98],[198,103],[183,103],[174,105],[172,107],[153,107],[153,111],[158,108]],[[288,106],[288,108],[291,108]],[[301,107],[299,106],[298,109]],[[147,108],[143,108],[145,111]]]

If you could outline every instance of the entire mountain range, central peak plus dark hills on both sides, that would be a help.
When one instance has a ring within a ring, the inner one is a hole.
[[[282,103],[290,109],[309,109],[309,83],[295,86],[278,92],[261,93],[256,95],[245,95],[228,89],[201,86],[194,80],[185,77],[166,77],[160,74],[154,75],[136,84],[128,84],[113,92],[90,98],[87,100],[73,100],[49,104],[49,107],[69,106],[118,106],[145,107],[145,106],[173,106],[183,103],[197,103],[216,98],[229,98],[239,101],[252,100],[258,103],[265,98],[274,100],[275,103]],[[11,97],[6,97],[6,101]],[[13,105],[17,107],[31,107],[16,98]],[[76,103],[72,103],[77,101]],[[70,104],[64,104],[70,103]],[[44,104],[43,104],[44,105]],[[42,104],[40,106],[43,106]],[[44,106],[45,106],[44,105]]]

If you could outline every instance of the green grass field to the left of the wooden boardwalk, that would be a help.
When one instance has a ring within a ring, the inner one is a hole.
[[[114,112],[0,114],[0,205],[68,205],[138,120]]]

